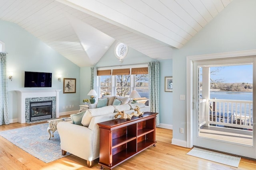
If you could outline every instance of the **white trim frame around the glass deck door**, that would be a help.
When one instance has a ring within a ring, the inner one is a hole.
[[[225,59],[232,57],[250,57],[256,56],[255,50],[246,50],[246,51],[234,51],[227,53],[214,53],[214,54],[206,54],[206,55],[194,55],[187,56],[186,58],[186,68],[187,68],[187,76],[186,76],[186,84],[187,84],[187,147],[193,147],[193,109],[195,107],[195,103],[193,102],[193,62],[194,61],[202,61],[209,59]],[[256,89],[254,92],[256,92]],[[256,100],[256,98],[254,98]],[[255,108],[255,106],[254,106]],[[253,131],[254,137],[256,137],[256,130]]]

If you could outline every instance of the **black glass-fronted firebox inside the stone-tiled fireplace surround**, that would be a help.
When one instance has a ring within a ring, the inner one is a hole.
[[[52,100],[30,102],[29,121],[37,121],[52,118]]]

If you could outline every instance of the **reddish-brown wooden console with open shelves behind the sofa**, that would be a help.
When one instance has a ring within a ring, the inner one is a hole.
[[[145,112],[131,120],[114,119],[98,123],[100,128],[100,169],[112,169],[125,160],[156,146],[156,115]]]

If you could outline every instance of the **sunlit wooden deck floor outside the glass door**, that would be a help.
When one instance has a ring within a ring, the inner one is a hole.
[[[252,131],[232,129],[226,127],[213,127],[202,126],[200,128],[200,137],[206,137],[210,139],[217,139],[220,141],[227,141],[231,143],[238,143],[242,145],[253,145]]]

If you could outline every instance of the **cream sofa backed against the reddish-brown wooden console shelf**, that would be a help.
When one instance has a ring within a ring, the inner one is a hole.
[[[80,122],[82,125],[72,122],[58,123],[57,129],[60,135],[62,154],[65,155],[66,152],[74,154],[87,160],[87,166],[92,167],[93,161],[99,157],[100,150],[100,130],[97,123],[114,119],[116,111],[124,110],[125,113],[130,114],[134,112],[136,106],[140,107],[140,111],[150,111],[150,107],[144,104],[110,105],[86,110]],[[73,115],[71,116],[73,117]]]

